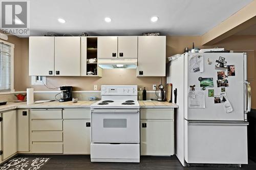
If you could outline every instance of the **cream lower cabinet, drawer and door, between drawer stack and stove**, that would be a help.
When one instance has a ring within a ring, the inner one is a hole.
[[[63,154],[90,154],[90,109],[63,110]]]

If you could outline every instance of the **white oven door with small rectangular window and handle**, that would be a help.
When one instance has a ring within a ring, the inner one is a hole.
[[[94,109],[91,111],[91,142],[139,143],[138,109]]]

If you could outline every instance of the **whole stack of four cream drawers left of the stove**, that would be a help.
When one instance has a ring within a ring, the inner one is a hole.
[[[30,110],[31,153],[62,154],[61,109]]]

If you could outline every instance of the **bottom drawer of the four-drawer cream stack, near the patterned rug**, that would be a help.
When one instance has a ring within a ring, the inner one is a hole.
[[[63,150],[62,142],[32,142],[31,151],[32,153],[52,153],[62,154]]]

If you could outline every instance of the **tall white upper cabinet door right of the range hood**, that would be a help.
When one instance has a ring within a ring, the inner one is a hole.
[[[138,37],[137,76],[165,76],[166,37]]]

